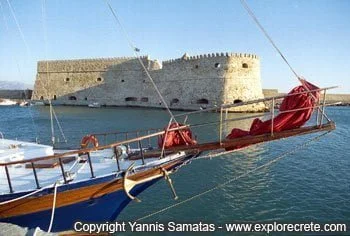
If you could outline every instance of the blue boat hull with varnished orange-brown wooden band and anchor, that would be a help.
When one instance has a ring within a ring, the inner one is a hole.
[[[170,161],[161,166],[130,175],[128,179],[146,182],[137,184],[130,190],[137,196],[162,178],[162,168],[172,172],[193,155]],[[72,229],[74,223],[113,221],[128,205],[131,199],[123,186],[124,173],[116,177],[112,174],[84,182],[66,184],[57,187],[56,208],[52,231]],[[54,188],[45,189],[39,196],[28,197],[15,202],[0,205],[0,221],[23,227],[40,227],[47,230],[52,213]],[[0,197],[0,202],[18,198],[21,194],[7,194]]]

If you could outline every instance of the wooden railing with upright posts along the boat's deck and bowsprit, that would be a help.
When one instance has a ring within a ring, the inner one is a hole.
[[[312,132],[316,132],[318,129],[319,131],[322,130],[332,130],[334,129],[334,124],[331,122],[331,120],[327,117],[326,113],[325,113],[325,107],[326,106],[330,106],[330,105],[336,105],[337,103],[328,103],[326,104],[326,90],[331,89],[334,87],[329,87],[329,88],[323,88],[323,89],[317,89],[317,90],[312,90],[312,91],[305,91],[305,92],[300,92],[298,94],[303,94],[303,93],[310,93],[313,91],[324,91],[323,92],[323,97],[322,99],[319,99],[319,102],[313,106],[313,107],[305,107],[305,108],[297,108],[297,109],[292,109],[292,110],[285,110],[285,111],[279,111],[275,108],[276,105],[276,101],[278,99],[282,99],[285,98],[287,96],[290,96],[288,94],[283,95],[283,96],[277,96],[277,97],[272,97],[272,98],[266,98],[266,99],[259,99],[259,100],[255,100],[254,103],[260,103],[260,102],[268,102],[270,101],[270,112],[269,113],[265,113],[265,115],[267,116],[267,118],[271,119],[271,132],[269,134],[264,134],[261,137],[256,137],[255,141],[247,141],[247,138],[243,138],[242,140],[244,142],[248,142],[251,144],[255,144],[258,142],[264,142],[264,141],[272,141],[272,140],[276,140],[279,139],[280,137],[290,137],[292,135],[298,135],[298,134],[307,134],[307,133],[312,133]],[[295,95],[295,94],[294,94]],[[322,100],[322,101],[321,101]],[[91,172],[91,178],[95,178],[95,173],[94,173],[94,167],[91,161],[91,153],[92,152],[96,152],[96,151],[100,151],[100,150],[105,150],[105,149],[112,149],[113,153],[114,153],[114,157],[116,159],[116,166],[117,166],[117,170],[118,171],[125,171],[121,169],[120,163],[119,163],[119,156],[120,156],[120,150],[118,150],[119,146],[126,146],[128,148],[130,148],[132,145],[134,145],[135,153],[137,154],[136,157],[134,157],[135,159],[141,159],[142,160],[142,164],[145,164],[145,158],[149,158],[149,157],[158,157],[158,158],[162,158],[165,155],[169,154],[169,153],[174,153],[176,151],[179,150],[199,150],[199,151],[203,151],[203,150],[209,150],[209,148],[213,147],[213,148],[225,148],[227,147],[227,145],[231,145],[233,142],[239,142],[240,140],[233,140],[233,141],[227,141],[225,140],[224,134],[223,134],[223,125],[227,124],[229,122],[234,122],[234,121],[239,121],[239,120],[245,120],[245,119],[252,119],[252,118],[257,118],[257,117],[261,117],[262,114],[258,114],[258,115],[251,115],[251,116],[244,116],[244,117],[237,117],[237,118],[227,118],[223,116],[223,112],[225,111],[225,109],[229,109],[231,107],[237,107],[237,106],[243,106],[243,105],[247,105],[247,104],[252,104],[253,102],[243,102],[241,104],[224,104],[221,107],[219,107],[220,109],[220,119],[218,121],[213,121],[213,122],[206,122],[206,123],[198,123],[198,124],[184,124],[181,125],[179,127],[176,128],[171,128],[168,129],[167,131],[165,131],[164,129],[148,129],[148,130],[137,130],[137,131],[131,131],[131,132],[109,132],[109,133],[96,133],[93,134],[95,136],[103,136],[103,137],[107,137],[108,135],[114,135],[115,136],[115,140],[114,142],[110,143],[110,144],[104,144],[102,146],[95,146],[92,148],[84,148],[84,149],[80,149],[80,150],[74,150],[74,151],[68,151],[68,152],[64,152],[64,153],[59,153],[59,154],[55,154],[55,155],[50,155],[50,156],[43,156],[43,157],[37,157],[37,158],[33,158],[33,159],[26,159],[26,160],[18,160],[18,161],[10,161],[10,162],[5,162],[5,163],[0,163],[0,167],[4,167],[5,172],[6,172],[6,178],[7,178],[7,182],[8,182],[8,186],[9,186],[9,190],[10,192],[14,192],[12,183],[11,183],[11,176],[10,176],[10,172],[9,172],[9,166],[12,165],[16,165],[16,164],[29,164],[33,170],[33,177],[35,179],[35,183],[37,188],[41,188],[40,186],[40,182],[38,179],[38,175],[36,172],[36,162],[39,161],[44,161],[44,160],[50,160],[50,159],[58,159],[59,162],[59,166],[61,169],[61,174],[62,174],[62,178],[63,178],[63,182],[66,184],[68,183],[70,180],[67,179],[67,172],[64,169],[64,163],[63,163],[63,158],[65,157],[71,157],[71,156],[82,156],[85,155],[87,157],[87,162],[89,164],[89,168],[90,168],[90,172]],[[306,110],[306,109],[316,109],[317,113],[316,113],[316,125],[312,126],[312,127],[305,127],[305,129],[300,130],[300,131],[293,131],[293,132],[289,132],[287,134],[280,135],[280,134],[276,134],[273,130],[273,122],[274,122],[274,118],[276,117],[276,113],[287,113],[287,112],[295,112],[295,111],[300,111],[300,110]],[[218,109],[218,108],[215,108]],[[206,112],[208,110],[203,110],[201,112]],[[188,114],[195,114],[198,112],[190,112],[187,113]],[[227,114],[227,112],[226,112]],[[186,117],[187,117],[186,115]],[[324,123],[324,120],[327,120],[327,123]],[[187,121],[187,118],[185,119]],[[161,138],[160,136],[166,136],[167,132],[171,132],[171,131],[178,131],[178,130],[183,130],[183,129],[188,129],[188,128],[196,128],[196,127],[202,127],[202,126],[209,126],[209,125],[216,125],[219,124],[219,130],[218,130],[218,136],[219,136],[219,142],[211,142],[211,143],[201,143],[201,144],[196,144],[196,145],[189,145],[189,146],[183,146],[183,147],[176,147],[176,148],[170,148],[165,150],[161,150],[161,148],[159,149],[155,149],[155,150],[151,150],[151,151],[147,151],[146,153],[144,152],[145,149],[151,147],[152,143],[151,140],[158,140],[159,138]],[[118,138],[121,138],[122,140],[118,140]],[[107,139],[107,138],[106,138]],[[147,145],[145,145],[145,142],[147,142]],[[147,146],[147,148],[145,148]],[[133,159],[133,158],[131,158]]]

